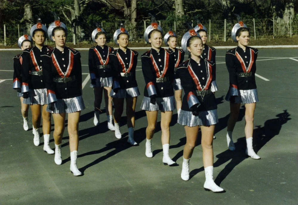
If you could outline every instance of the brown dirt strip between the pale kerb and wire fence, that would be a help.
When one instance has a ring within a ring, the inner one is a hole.
[[[237,44],[233,42],[232,40],[227,40],[226,42],[224,41],[210,41],[207,42],[209,46],[236,46]],[[49,46],[55,46],[53,42],[48,41]],[[70,48],[90,48],[91,46],[94,46],[95,43],[88,43],[88,42],[80,42],[77,43],[76,45],[73,45],[72,43],[67,43],[66,46]],[[112,47],[118,47],[115,43],[107,43],[107,45],[112,46]],[[262,39],[262,40],[254,40],[251,38],[250,46],[277,46],[277,45],[298,45],[298,36],[293,36],[293,37],[273,37],[267,38],[267,39]],[[144,42],[139,42],[139,43],[134,43],[130,42],[129,47],[149,47],[149,44],[146,44]],[[163,45],[165,46],[165,45]],[[18,48],[18,45],[8,45],[8,46],[3,46],[0,45],[0,48]]]

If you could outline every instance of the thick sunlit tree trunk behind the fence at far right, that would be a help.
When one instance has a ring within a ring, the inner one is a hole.
[[[277,23],[277,35],[287,35],[290,32],[290,17],[294,18],[294,0],[273,0],[273,18]]]

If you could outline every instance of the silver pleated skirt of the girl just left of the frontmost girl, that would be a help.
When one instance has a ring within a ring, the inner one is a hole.
[[[141,109],[148,111],[172,111],[176,108],[174,96],[165,98],[155,98],[155,101],[156,103],[152,104],[150,103],[150,98],[144,96],[141,104]]]

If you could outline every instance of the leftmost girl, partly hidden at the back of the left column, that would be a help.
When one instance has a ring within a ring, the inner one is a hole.
[[[31,36],[28,36],[27,34],[22,35],[18,39],[18,47],[24,51],[26,48],[31,47],[32,44],[32,38]],[[21,84],[22,84],[22,77],[21,77],[21,72],[22,72],[22,62],[23,58],[21,56],[22,54],[18,54],[15,57],[13,57],[13,89],[16,89],[18,91],[18,97],[20,97],[21,100],[21,113],[23,116],[23,128],[25,131],[29,129],[28,126],[28,110],[29,110],[29,105],[23,103],[23,94],[22,94],[22,89],[21,89]]]

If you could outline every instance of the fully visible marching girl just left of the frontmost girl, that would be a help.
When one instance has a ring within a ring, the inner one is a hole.
[[[174,52],[161,48],[162,29],[152,18],[152,24],[145,30],[144,37],[151,49],[141,56],[145,79],[144,98],[141,109],[146,110],[146,156],[153,157],[151,140],[155,132],[158,110],[161,111],[161,143],[164,165],[175,165],[169,157],[170,122],[175,109],[174,91]]]

